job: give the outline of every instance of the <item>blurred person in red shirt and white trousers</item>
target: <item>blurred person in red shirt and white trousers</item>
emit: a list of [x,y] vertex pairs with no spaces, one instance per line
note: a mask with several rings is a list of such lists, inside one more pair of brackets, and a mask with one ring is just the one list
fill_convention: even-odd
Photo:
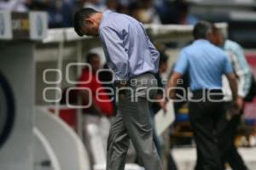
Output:
[[[78,87],[90,89],[90,93],[88,90],[80,90],[79,94],[82,96],[83,105],[88,105],[91,102],[90,108],[84,110],[84,144],[89,150],[90,162],[93,165],[99,157],[97,154],[101,155],[100,157],[106,155],[110,128],[110,121],[107,117],[113,115],[113,104],[96,77],[96,71],[100,69],[100,57],[97,54],[88,54],[86,59],[91,70],[84,68],[79,78]],[[89,80],[90,82],[88,82]],[[97,143],[93,141],[97,141]]]

